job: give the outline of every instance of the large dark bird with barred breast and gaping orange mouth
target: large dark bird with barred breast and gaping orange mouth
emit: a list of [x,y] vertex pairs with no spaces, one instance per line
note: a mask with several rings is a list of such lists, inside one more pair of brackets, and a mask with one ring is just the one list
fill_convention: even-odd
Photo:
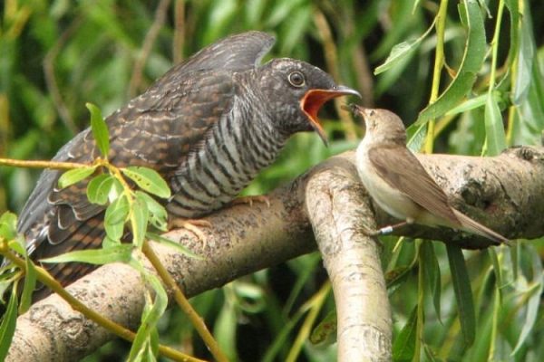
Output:
[[[358,93],[306,62],[259,65],[273,43],[267,33],[240,33],[164,74],[106,119],[112,164],[157,170],[172,190],[170,216],[193,219],[231,202],[294,133],[314,129],[325,138],[317,111],[326,100]],[[53,160],[91,163],[98,156],[85,129]],[[35,260],[102,243],[105,206],[87,200],[87,181],[59,189],[60,175],[45,170],[20,214],[18,231]],[[93,268],[45,266],[63,285]],[[34,300],[47,294],[43,288]]]

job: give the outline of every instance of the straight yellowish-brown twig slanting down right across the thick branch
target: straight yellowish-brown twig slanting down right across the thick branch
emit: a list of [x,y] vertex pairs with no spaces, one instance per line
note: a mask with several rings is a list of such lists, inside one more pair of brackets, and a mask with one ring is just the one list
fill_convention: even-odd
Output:
[[155,268],[155,271],[157,271],[157,273],[159,274],[160,279],[164,281],[166,287],[173,291],[174,299],[180,306],[181,310],[185,312],[194,328],[197,329],[197,332],[199,332],[200,337],[204,340],[206,346],[208,346],[209,352],[219,362],[228,362],[228,357],[226,357],[223,354],[221,348],[219,348],[218,342],[209,332],[208,327],[206,327],[206,324],[204,323],[204,320],[201,319],[199,313],[197,313],[196,310],[192,308],[189,300],[187,300],[183,292],[180,290],[180,287],[178,286],[176,281],[174,281],[174,278],[172,278],[170,272],[166,270],[164,265],[162,265],[162,262],[160,262],[159,257],[153,251],[149,242],[143,243],[142,252],[151,262],[151,265],[153,265],[153,268]]

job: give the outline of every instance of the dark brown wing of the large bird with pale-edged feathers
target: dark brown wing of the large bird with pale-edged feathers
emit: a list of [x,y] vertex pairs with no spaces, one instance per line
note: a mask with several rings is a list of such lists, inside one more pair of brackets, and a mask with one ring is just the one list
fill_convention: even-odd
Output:
[[[184,157],[199,147],[208,129],[230,110],[236,91],[234,72],[255,68],[273,43],[274,38],[266,33],[235,35],[167,72],[106,119],[110,161],[117,167],[151,167],[168,178]],[[98,156],[92,132],[86,129],[53,160],[91,163]],[[59,190],[61,174],[44,171],[19,217],[18,231],[24,233],[34,259],[97,248],[102,243],[105,207],[88,202],[87,180]],[[49,269],[67,285],[90,267],[57,264]]]

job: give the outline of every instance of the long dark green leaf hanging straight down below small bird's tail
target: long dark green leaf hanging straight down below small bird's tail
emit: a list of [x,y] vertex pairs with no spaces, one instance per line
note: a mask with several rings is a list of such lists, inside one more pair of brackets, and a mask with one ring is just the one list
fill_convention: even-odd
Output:
[[453,291],[457,300],[461,332],[465,347],[470,347],[476,337],[476,312],[472,297],[471,280],[461,252],[461,248],[452,243],[446,244],[448,262],[452,271]]

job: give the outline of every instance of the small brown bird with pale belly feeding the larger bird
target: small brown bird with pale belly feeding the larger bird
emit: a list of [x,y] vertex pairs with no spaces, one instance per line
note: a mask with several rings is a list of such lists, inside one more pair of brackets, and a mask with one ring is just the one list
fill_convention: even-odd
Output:
[[356,154],[359,177],[380,207],[404,220],[380,229],[381,233],[415,223],[476,233],[494,243],[509,242],[450,205],[442,188],[406,148],[406,130],[397,115],[389,110],[369,110],[356,105],[352,110],[363,117],[366,125],[366,134]]

